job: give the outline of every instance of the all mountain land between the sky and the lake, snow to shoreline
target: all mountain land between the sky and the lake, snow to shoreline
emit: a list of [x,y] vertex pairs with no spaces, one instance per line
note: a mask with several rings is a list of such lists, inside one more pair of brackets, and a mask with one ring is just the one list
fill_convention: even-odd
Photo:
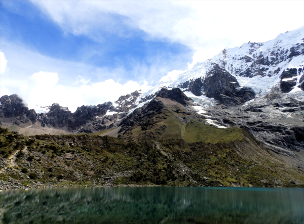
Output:
[[74,113],[0,102],[0,189],[304,186],[304,26]]

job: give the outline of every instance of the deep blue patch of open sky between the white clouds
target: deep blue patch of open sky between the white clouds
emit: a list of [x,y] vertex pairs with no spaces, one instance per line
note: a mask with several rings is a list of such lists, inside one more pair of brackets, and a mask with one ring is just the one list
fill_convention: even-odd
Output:
[[[191,61],[194,54],[193,49],[178,42],[166,41],[164,38],[145,39],[146,35],[140,29],[128,29],[125,31],[126,36],[99,29],[98,39],[84,34],[74,35],[65,32],[39,8],[24,0],[3,1],[0,6],[3,41],[21,44],[29,50],[58,60],[108,70],[124,68],[126,74],[116,77],[121,81],[142,78],[140,76],[143,74],[133,72],[134,64],[148,68],[153,66],[157,58],[168,64],[169,71],[180,70],[187,68],[186,62]],[[120,20],[119,15],[111,17]],[[153,79],[162,75],[155,74]],[[90,75],[90,78],[95,81],[108,77]]]

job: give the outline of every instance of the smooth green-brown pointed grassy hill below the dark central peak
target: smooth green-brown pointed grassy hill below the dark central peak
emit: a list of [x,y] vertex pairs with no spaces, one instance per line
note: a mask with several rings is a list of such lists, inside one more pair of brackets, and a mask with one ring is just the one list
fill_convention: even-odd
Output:
[[200,116],[194,116],[186,108],[163,106],[160,112],[135,123],[120,138],[139,141],[182,139],[187,143],[229,143],[242,140],[240,128],[217,128],[205,124]]

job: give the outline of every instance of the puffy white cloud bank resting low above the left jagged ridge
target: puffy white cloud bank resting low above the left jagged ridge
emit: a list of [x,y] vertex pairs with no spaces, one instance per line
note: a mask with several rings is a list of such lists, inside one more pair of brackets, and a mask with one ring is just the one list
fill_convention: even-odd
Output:
[[58,80],[58,74],[54,72],[34,73],[26,83],[20,85],[19,96],[29,108],[37,108],[36,105],[50,106],[53,103],[59,103],[74,112],[77,107],[82,105],[114,102],[122,95],[150,87],[147,82],[140,84],[135,81],[127,81],[121,84],[113,79],[91,84],[83,83],[78,86],[64,86],[59,84]]

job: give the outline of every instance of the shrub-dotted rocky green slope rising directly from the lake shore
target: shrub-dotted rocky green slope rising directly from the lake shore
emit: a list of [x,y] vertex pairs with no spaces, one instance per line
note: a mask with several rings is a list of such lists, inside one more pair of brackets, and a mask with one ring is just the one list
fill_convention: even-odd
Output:
[[[287,164],[283,155],[260,146],[245,130],[241,130],[241,140],[232,136],[216,144],[186,143],[182,139],[140,142],[89,135],[24,137],[3,128],[0,132],[1,189],[304,184],[302,161],[288,157],[291,162]],[[298,164],[298,168],[289,164]]]

